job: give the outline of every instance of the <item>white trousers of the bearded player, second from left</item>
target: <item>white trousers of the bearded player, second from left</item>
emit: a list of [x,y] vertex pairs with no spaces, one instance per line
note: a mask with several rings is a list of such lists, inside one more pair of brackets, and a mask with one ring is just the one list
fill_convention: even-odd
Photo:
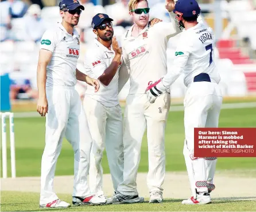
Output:
[[103,194],[102,157],[106,153],[114,190],[123,181],[123,115],[120,105],[106,107],[85,95],[84,111],[92,136],[89,185],[92,193]]

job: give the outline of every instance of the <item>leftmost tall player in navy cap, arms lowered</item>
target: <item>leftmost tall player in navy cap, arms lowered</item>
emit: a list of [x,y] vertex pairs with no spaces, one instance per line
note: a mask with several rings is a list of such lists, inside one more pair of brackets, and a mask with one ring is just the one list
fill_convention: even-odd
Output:
[[80,53],[77,25],[84,7],[78,1],[60,2],[63,21],[55,29],[46,30],[41,39],[37,68],[37,111],[46,114],[45,149],[41,161],[40,207],[70,207],[53,190],[57,158],[66,137],[74,151],[73,205],[106,203],[91,195],[87,184],[90,163],[91,135],[79,94],[77,79],[99,89],[99,82],[76,69]]

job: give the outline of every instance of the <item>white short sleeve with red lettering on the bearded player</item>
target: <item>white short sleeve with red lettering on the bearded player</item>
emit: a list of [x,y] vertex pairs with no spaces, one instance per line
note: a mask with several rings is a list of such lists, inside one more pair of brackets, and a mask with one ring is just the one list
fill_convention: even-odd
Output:
[[84,57],[84,70],[89,77],[98,79],[107,69],[107,66],[102,55],[93,54],[91,50],[87,50],[86,57]]

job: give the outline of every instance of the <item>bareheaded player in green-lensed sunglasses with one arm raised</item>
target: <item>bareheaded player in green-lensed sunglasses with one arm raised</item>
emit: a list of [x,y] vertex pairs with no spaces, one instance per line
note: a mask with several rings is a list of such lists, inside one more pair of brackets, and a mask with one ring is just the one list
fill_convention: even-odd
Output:
[[[130,78],[123,121],[124,173],[118,185],[117,199],[122,201],[138,195],[136,178],[141,158],[142,137],[147,128],[149,172],[147,183],[150,203],[162,202],[165,178],[165,126],[170,107],[170,94],[165,93],[151,105],[145,87],[167,73],[166,47],[170,37],[181,32],[174,21],[174,2],[166,0],[172,22],[160,22],[149,27],[148,1],[131,0],[130,15],[134,25],[123,35],[121,46],[127,73],[119,74],[119,90]],[[126,74],[126,75],[125,75]]]

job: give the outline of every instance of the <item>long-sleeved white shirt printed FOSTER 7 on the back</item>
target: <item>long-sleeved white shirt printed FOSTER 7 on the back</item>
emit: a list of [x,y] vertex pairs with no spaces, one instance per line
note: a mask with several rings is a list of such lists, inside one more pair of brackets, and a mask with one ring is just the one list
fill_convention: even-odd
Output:
[[173,66],[168,74],[162,78],[167,88],[184,74],[184,84],[189,86],[193,78],[200,73],[210,75],[211,82],[219,83],[220,76],[214,62],[214,33],[211,27],[204,23],[197,23],[185,30],[177,44]]

